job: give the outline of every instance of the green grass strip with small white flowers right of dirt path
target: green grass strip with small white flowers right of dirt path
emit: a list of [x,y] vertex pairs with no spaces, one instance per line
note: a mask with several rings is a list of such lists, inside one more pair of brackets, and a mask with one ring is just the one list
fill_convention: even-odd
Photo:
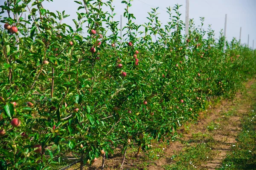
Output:
[[217,170],[256,170],[256,105],[242,119],[242,131],[222,167]]

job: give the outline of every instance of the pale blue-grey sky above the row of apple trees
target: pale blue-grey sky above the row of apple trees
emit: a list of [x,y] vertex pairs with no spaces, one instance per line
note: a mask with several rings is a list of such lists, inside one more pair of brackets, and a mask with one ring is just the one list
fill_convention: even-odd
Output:
[[[104,0],[105,1],[105,0]],[[116,18],[120,20],[120,14],[123,14],[125,4],[121,3],[122,0],[113,0],[115,6]],[[4,0],[0,0],[0,5],[3,5]],[[134,13],[136,20],[135,23],[143,24],[148,16],[147,12],[151,8],[159,7],[159,19],[162,23],[166,23],[169,19],[168,14],[165,12],[166,7],[175,6],[175,4],[183,5],[180,8],[182,20],[185,21],[185,3],[186,0],[134,0],[130,8],[130,12]],[[200,24],[199,17],[205,17],[204,28],[207,29],[208,25],[212,25],[215,30],[215,37],[219,37],[219,32],[224,29],[225,14],[227,14],[227,40],[232,40],[233,37],[239,39],[240,26],[242,27],[241,42],[247,43],[248,34],[250,34],[249,46],[252,47],[253,40],[256,41],[256,0],[190,0],[189,18],[194,18],[195,24]],[[73,26],[72,19],[76,19],[76,11],[78,4],[73,0],[53,0],[53,2],[44,2],[44,8],[50,11],[63,11],[70,14],[65,23]],[[108,10],[104,8],[104,10]],[[82,12],[80,10],[79,12]],[[123,20],[125,22],[125,20]],[[256,42],[254,43],[254,49]]]

